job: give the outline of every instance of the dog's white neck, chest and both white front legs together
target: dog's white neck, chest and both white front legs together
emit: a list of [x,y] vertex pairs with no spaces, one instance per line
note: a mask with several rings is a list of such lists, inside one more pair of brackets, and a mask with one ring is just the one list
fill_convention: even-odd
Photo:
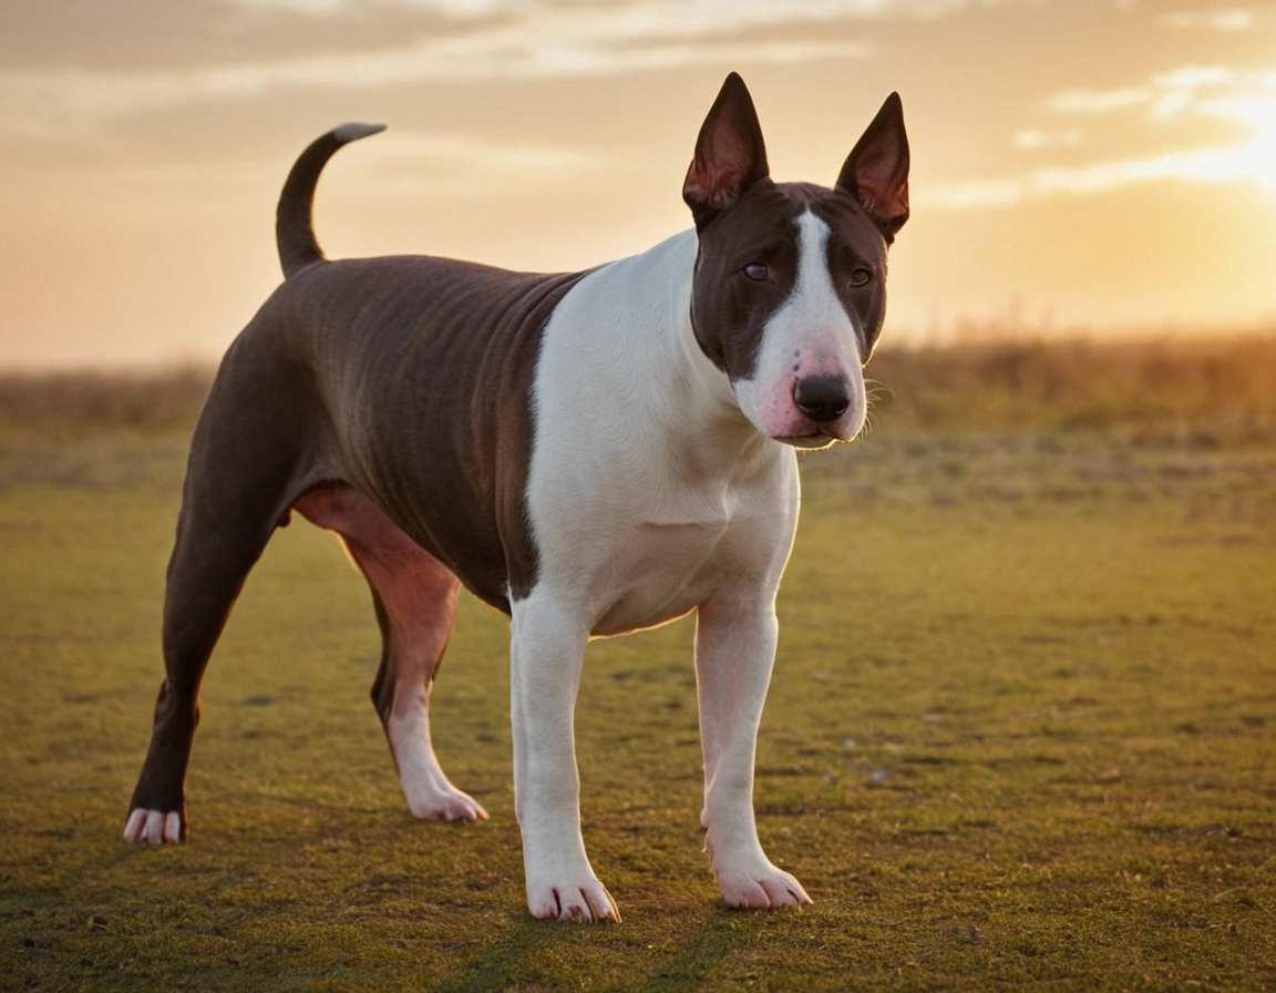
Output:
[[619,919],[579,828],[572,715],[586,642],[694,608],[720,886],[734,905],[806,900],[762,854],[752,791],[796,457],[754,430],[695,343],[694,255],[686,232],[604,267],[545,329],[527,486],[540,572],[512,604],[514,796],[538,916]]

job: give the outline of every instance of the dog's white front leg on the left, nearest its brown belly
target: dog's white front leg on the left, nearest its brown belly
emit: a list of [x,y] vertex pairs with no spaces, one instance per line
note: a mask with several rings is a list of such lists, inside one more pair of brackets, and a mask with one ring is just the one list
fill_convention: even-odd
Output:
[[620,920],[581,837],[573,713],[588,632],[570,608],[545,595],[533,592],[512,613],[514,809],[527,906],[538,918]]

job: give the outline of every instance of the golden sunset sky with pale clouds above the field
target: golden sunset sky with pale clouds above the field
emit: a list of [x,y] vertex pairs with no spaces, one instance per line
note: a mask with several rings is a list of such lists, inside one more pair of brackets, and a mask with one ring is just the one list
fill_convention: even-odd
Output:
[[346,120],[332,258],[642,251],[731,70],[777,180],[900,92],[886,345],[1276,328],[1276,0],[0,0],[0,368],[216,360]]

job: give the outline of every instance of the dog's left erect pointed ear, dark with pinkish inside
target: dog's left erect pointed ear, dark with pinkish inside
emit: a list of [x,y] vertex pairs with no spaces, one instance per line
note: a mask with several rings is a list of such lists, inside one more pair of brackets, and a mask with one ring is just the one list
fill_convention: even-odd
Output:
[[744,80],[731,73],[701,125],[695,157],[683,183],[683,199],[692,208],[695,227],[703,228],[768,172],[753,98]]

